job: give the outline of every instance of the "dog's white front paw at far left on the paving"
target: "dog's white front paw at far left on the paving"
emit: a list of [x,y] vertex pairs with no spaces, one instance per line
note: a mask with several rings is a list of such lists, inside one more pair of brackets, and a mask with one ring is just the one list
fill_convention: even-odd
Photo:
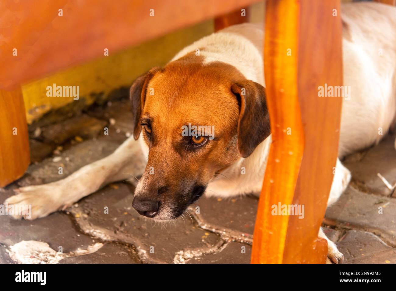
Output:
[[8,203],[8,215],[14,219],[33,220],[59,210],[63,207],[61,193],[56,185],[51,184],[15,189],[17,194],[4,202]]

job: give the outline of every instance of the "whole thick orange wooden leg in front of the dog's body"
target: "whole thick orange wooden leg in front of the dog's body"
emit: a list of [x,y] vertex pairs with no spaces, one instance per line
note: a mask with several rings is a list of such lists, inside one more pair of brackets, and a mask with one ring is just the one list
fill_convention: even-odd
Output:
[[[337,9],[337,16],[333,16]],[[318,230],[336,164],[341,97],[339,0],[268,0],[264,63],[272,145],[253,235],[251,263],[325,263]],[[272,215],[274,205],[304,205],[304,218]]]

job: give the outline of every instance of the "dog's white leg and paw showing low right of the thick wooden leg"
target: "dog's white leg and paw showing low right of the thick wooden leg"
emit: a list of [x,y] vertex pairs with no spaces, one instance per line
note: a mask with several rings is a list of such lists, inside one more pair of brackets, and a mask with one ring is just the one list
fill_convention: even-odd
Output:
[[[329,199],[327,200],[327,207],[338,200],[341,194],[345,191],[348,183],[350,181],[351,174],[340,160],[337,158],[337,163],[335,166],[334,179],[331,184]],[[322,231],[322,227],[319,229],[318,236],[327,240],[327,263],[342,263],[344,260],[344,255],[339,252],[335,243],[326,237],[326,234]]]

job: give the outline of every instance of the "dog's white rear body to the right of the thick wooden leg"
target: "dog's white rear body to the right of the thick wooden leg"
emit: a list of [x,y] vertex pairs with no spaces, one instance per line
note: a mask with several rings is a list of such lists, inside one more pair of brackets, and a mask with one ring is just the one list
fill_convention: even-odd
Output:
[[[396,108],[396,8],[377,3],[342,7],[350,37],[343,39],[344,85],[339,157],[379,142]],[[382,55],[379,55],[382,50]]]

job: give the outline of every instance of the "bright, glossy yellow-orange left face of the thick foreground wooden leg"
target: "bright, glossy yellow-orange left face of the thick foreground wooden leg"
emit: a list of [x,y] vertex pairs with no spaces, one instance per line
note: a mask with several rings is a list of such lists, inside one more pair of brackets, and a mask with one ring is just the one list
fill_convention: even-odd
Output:
[[[291,204],[303,156],[297,96],[298,12],[297,1],[267,1],[264,74],[272,145],[257,210],[251,263],[282,263],[289,217],[272,216],[271,205],[280,201]],[[291,56],[286,55],[287,49],[291,49]],[[292,134],[287,135],[287,128]]]

